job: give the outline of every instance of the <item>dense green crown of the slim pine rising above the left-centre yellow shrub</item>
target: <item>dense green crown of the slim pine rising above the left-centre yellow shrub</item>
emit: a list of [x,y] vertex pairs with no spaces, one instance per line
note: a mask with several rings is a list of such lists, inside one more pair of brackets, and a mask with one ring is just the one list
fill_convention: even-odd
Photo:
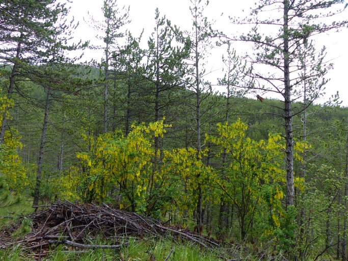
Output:
[[[146,90],[152,97],[154,121],[160,121],[168,115],[170,106],[179,102],[175,96],[176,92],[184,88],[185,67],[183,59],[188,57],[188,50],[184,47],[174,47],[173,32],[166,24],[166,17],[160,17],[158,8],[155,10],[156,25],[154,32],[148,40],[147,64],[145,66],[145,77],[150,82]],[[159,139],[155,139],[155,150],[159,148]]]

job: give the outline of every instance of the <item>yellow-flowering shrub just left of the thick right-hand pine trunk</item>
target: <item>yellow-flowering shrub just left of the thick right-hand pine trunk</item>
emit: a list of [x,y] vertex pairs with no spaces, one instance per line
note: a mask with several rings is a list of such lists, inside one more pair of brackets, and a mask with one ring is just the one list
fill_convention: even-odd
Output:
[[[285,183],[283,138],[273,134],[266,141],[255,141],[246,137],[247,128],[240,120],[219,123],[216,136],[206,135],[206,141],[219,148],[217,158],[223,160],[223,167],[217,170],[215,183],[221,197],[236,209],[242,239],[255,218],[270,224],[264,227],[268,234],[280,225]],[[262,209],[265,215],[257,217]]]

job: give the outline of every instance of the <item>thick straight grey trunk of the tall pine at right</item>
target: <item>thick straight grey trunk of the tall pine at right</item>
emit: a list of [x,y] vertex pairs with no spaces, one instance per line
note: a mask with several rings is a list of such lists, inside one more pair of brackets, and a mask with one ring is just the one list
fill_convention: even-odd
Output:
[[289,39],[288,39],[288,0],[284,0],[284,119],[286,140],[286,206],[293,205],[293,139],[292,139],[292,111],[290,90],[290,61],[289,61]]

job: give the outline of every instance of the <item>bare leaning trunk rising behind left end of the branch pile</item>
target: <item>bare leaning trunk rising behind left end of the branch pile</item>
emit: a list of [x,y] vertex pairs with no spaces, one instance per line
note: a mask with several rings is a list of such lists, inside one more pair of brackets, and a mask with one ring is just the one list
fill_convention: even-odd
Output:
[[42,127],[42,133],[41,133],[40,150],[39,150],[39,155],[38,155],[38,167],[37,167],[37,170],[36,170],[36,185],[35,185],[35,190],[34,190],[33,205],[38,205],[39,204],[39,198],[40,198],[42,163],[43,163],[43,155],[44,155],[44,152],[45,152],[46,132],[47,132],[47,123],[48,123],[48,111],[49,111],[49,106],[50,106],[51,92],[52,92],[52,87],[49,86],[48,90],[47,90],[45,116],[43,118],[43,127]]

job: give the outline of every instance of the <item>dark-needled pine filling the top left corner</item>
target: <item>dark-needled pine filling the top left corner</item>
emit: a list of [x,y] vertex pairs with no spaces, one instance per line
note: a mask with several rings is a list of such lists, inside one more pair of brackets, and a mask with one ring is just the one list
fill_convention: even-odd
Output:
[[[21,92],[16,82],[28,80],[32,73],[30,65],[44,62],[44,53],[54,37],[52,25],[64,9],[64,5],[55,0],[5,0],[0,4],[0,63],[11,68],[8,75],[4,75],[10,80],[4,91],[9,98],[15,91]],[[4,117],[0,127],[2,143],[7,123]]]

